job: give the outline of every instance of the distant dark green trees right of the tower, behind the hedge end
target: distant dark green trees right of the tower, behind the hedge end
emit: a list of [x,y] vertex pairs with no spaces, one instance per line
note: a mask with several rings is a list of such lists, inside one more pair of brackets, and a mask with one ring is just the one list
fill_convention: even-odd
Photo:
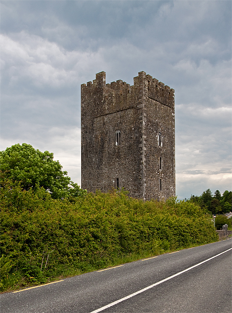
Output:
[[201,208],[207,208],[213,214],[225,214],[232,211],[232,191],[224,191],[221,195],[219,190],[212,194],[210,189],[207,189],[201,196],[191,195],[190,202],[197,203]]

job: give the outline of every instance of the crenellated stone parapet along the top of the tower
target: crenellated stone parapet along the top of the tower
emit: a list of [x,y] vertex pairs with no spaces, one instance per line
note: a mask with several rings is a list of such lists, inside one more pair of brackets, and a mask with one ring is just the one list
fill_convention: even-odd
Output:
[[[147,98],[146,102],[150,99],[150,101],[154,100],[174,108],[174,89],[170,89],[169,86],[159,82],[158,79],[144,71],[139,72],[138,76],[134,77],[134,85],[132,86],[121,79],[106,84],[105,76],[104,71],[99,72],[92,82],[89,81],[81,85],[82,101],[86,104],[89,103],[87,110],[91,110],[94,116],[102,116],[135,106],[142,96]],[[95,98],[94,102],[92,101],[93,97]],[[142,103],[140,107],[141,105],[143,106]],[[154,102],[153,105],[155,105]]]

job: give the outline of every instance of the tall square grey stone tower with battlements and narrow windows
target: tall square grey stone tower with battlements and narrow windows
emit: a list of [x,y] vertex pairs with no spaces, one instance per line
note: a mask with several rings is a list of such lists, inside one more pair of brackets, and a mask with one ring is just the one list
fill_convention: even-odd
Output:
[[82,84],[82,188],[175,196],[174,106],[174,89],[143,71],[133,86],[105,84],[105,72]]

